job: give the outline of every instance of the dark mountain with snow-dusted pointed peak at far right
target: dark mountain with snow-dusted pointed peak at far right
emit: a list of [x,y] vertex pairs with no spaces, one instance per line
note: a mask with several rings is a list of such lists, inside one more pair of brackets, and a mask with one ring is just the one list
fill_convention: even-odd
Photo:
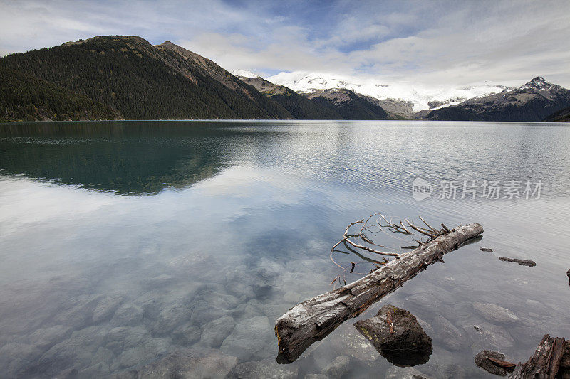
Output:
[[452,121],[538,122],[570,106],[570,90],[537,76],[530,82],[495,95],[475,97],[459,105],[432,110],[425,118]]

